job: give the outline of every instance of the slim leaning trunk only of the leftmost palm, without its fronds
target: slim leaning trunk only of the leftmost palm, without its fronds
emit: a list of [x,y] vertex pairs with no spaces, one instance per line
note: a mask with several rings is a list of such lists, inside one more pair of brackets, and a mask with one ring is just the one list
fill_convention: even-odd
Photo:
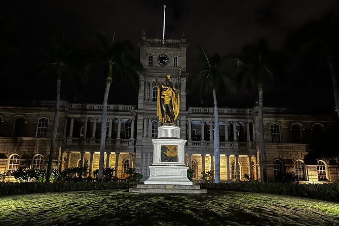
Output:
[[[61,69],[60,69],[61,73]],[[59,76],[60,78],[61,76]],[[56,134],[58,131],[58,122],[59,122],[59,111],[60,111],[60,87],[61,87],[61,79],[57,80],[57,96],[56,96],[56,103],[55,103],[55,113],[54,113],[54,122],[53,122],[53,134],[52,134],[52,141],[51,141],[51,148],[50,148],[50,156],[48,159],[48,166],[46,172],[46,182],[50,182],[51,177],[51,169],[52,169],[52,161],[53,161],[53,152],[54,152],[54,144],[56,139]]]

